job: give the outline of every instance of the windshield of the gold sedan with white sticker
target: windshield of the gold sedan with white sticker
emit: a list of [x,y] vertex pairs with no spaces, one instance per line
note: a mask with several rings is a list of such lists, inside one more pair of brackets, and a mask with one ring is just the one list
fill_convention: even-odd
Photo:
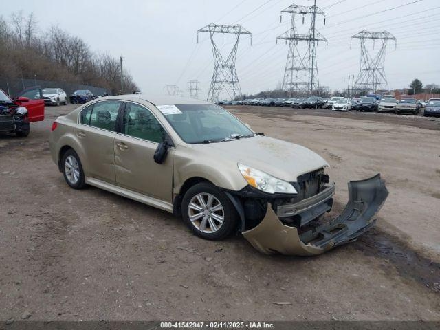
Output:
[[222,142],[254,136],[245,124],[217,105],[178,104],[175,107],[172,114],[164,113],[164,116],[186,143]]

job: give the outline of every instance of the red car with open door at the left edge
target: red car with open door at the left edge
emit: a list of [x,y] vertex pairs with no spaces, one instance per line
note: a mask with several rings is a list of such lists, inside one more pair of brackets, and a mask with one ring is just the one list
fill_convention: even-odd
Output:
[[30,122],[44,120],[44,100],[41,87],[29,87],[10,98],[0,89],[0,132],[28,136]]

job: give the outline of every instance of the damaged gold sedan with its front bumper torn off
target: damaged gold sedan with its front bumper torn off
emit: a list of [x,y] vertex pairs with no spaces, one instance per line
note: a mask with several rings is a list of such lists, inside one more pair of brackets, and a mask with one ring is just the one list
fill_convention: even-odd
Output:
[[181,214],[203,239],[241,232],[267,254],[349,243],[374,225],[388,195],[380,175],[351,181],[342,215],[320,225],[313,220],[331,210],[336,189],[325,159],[255,133],[215,104],[180,97],[91,101],[55,120],[50,151],[72,188],[89,184]]

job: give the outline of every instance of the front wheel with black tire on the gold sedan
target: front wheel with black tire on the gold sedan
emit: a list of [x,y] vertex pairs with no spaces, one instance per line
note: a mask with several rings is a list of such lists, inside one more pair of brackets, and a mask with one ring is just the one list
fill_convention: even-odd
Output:
[[[211,201],[214,211],[210,212],[209,208],[203,209],[203,205],[209,207],[207,205],[209,201]],[[192,207],[190,207],[190,203]],[[215,210],[219,207],[221,210]],[[223,218],[223,223],[220,223],[217,217],[212,217],[212,214],[219,217],[218,219]],[[210,240],[220,240],[227,237],[236,228],[238,219],[238,214],[228,196],[208,182],[201,182],[188,189],[181,203],[181,215],[188,228],[195,235]]]

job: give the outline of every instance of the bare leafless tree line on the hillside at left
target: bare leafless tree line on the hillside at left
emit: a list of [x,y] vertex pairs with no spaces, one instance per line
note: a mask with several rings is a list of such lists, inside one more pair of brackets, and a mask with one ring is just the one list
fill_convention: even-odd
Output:
[[[0,76],[34,78],[103,87],[111,94],[121,93],[118,58],[97,54],[78,36],[57,26],[41,31],[34,14],[0,16]],[[124,94],[139,91],[133,77],[124,69]]]

